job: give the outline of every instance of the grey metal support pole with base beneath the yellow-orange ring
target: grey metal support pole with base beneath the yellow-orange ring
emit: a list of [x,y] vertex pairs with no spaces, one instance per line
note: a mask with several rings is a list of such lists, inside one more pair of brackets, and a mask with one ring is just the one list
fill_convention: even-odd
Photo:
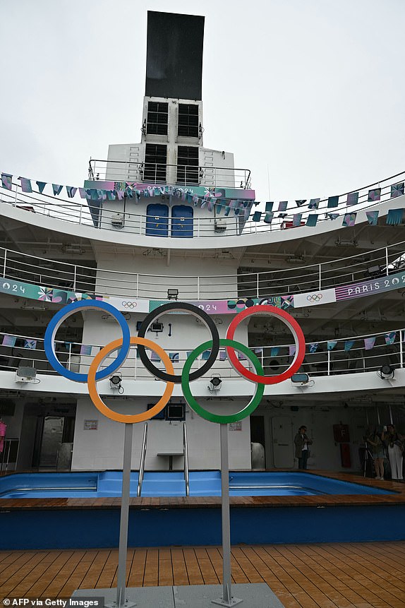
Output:
[[121,497],[121,519],[119,523],[119,550],[118,550],[118,575],[116,580],[116,602],[106,604],[107,607],[119,608],[121,606],[130,608],[136,606],[135,602],[129,602],[125,597],[126,588],[126,554],[128,548],[128,513],[129,513],[129,486],[131,481],[131,453],[132,453],[133,425],[126,422],[125,437],[123,440],[123,472],[122,472],[122,497]]

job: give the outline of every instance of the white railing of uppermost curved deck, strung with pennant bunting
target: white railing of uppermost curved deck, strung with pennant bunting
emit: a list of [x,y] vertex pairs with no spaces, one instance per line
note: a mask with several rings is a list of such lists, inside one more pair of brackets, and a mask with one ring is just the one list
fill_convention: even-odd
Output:
[[[354,213],[360,209],[373,210],[375,209],[376,205],[384,201],[392,200],[394,205],[396,198],[392,198],[391,186],[394,186],[401,180],[405,180],[405,172],[401,172],[394,176],[388,177],[387,179],[376,182],[375,184],[369,184],[368,186],[358,189],[359,198],[356,205],[347,205],[346,203],[347,195],[350,192],[339,196],[339,201],[340,199],[341,201],[339,202],[337,208],[327,208],[327,198],[322,198],[318,209],[311,211],[308,210],[308,205],[296,207],[294,203],[292,206],[289,205],[285,215],[285,213],[279,214],[277,212],[277,203],[274,203],[274,215],[271,223],[266,223],[265,221],[253,221],[251,218],[244,222],[244,220],[240,219],[241,215],[234,216],[232,211],[227,217],[224,217],[225,212],[223,211],[222,215],[219,215],[219,217],[226,220],[226,228],[220,233],[218,230],[215,230],[214,214],[212,214],[212,218],[195,217],[193,219],[192,230],[188,230],[186,232],[186,237],[184,238],[221,237],[221,239],[223,239],[226,236],[235,237],[235,235],[238,234],[248,235],[274,232],[277,230],[291,230],[295,228],[292,224],[294,220],[293,215],[296,213],[303,214],[301,223],[306,222],[306,217],[308,214],[318,214],[319,225],[322,222],[330,222],[330,213],[336,213],[341,218],[341,216],[343,216],[345,213]],[[192,189],[193,185],[188,184],[188,187]],[[368,191],[373,187],[381,188],[380,201],[368,201]],[[157,201],[159,198],[155,197],[155,199],[152,200]],[[109,230],[112,232],[121,233],[121,231],[123,231],[131,234],[145,235],[148,227],[149,236],[155,236],[159,239],[171,237],[171,220],[169,221],[167,217],[159,218],[160,222],[165,225],[164,232],[167,232],[167,234],[162,234],[162,229],[159,229],[156,234],[154,234],[153,230],[150,228],[150,220],[154,220],[156,217],[155,215],[147,216],[145,214],[125,212],[123,213],[123,221],[117,224],[117,222],[111,222],[111,212],[100,213],[100,203],[98,201],[95,201],[94,203],[89,201],[87,204],[75,201],[73,198],[65,199],[61,196],[49,196],[43,193],[40,194],[39,192],[24,193],[21,191],[20,184],[13,184],[12,190],[0,187],[0,201],[25,210],[27,213],[39,213],[40,215],[53,217],[56,220],[73,222],[74,224],[93,227],[97,230],[101,228],[103,230]],[[91,211],[93,213],[91,213]],[[120,211],[118,205],[117,211]],[[283,217],[280,217],[280,215]],[[262,213],[262,216],[264,219],[265,213]],[[176,224],[176,220],[174,220],[174,223]],[[336,227],[340,227],[340,225],[336,225]]]

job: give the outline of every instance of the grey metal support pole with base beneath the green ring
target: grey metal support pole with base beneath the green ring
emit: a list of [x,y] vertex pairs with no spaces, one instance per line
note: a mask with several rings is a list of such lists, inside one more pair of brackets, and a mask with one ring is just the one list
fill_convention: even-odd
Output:
[[231,520],[229,517],[229,459],[228,425],[221,427],[221,494],[222,494],[222,598],[212,604],[231,608],[243,600],[232,597],[231,592]]

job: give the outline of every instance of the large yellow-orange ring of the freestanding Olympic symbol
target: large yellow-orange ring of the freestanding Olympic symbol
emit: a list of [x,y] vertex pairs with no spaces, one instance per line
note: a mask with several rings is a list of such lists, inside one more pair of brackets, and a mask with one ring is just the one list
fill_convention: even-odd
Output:
[[[143,346],[147,346],[148,348],[150,348],[150,350],[156,352],[156,354],[162,359],[162,362],[166,367],[166,371],[169,374],[174,373],[173,364],[171,363],[169,355],[162,349],[161,346],[155,344],[155,342],[152,342],[152,340],[147,340],[147,338],[131,337],[130,344],[142,344]],[[119,414],[118,412],[113,412],[113,410],[110,410],[110,408],[105,405],[104,401],[97,392],[96,373],[99,364],[102,363],[102,360],[105,359],[105,357],[107,357],[110,352],[116,350],[120,346],[122,346],[122,338],[120,338],[119,340],[113,340],[113,342],[110,342],[109,344],[107,344],[107,346],[104,346],[102,350],[97,352],[95,358],[92,360],[92,364],[90,365],[87,377],[87,386],[89,388],[90,399],[94,403],[95,407],[97,407],[97,410],[99,410],[99,412],[101,412],[104,416],[107,416],[107,418],[110,418],[111,420],[115,420],[116,422],[129,423],[144,422],[145,420],[153,418],[155,415],[159,414],[159,412],[162,412],[164,406],[171,398],[171,393],[173,393],[174,389],[174,382],[167,382],[166,388],[164,389],[164,393],[157,402],[157,404],[151,407],[150,410],[147,410],[142,414]]]

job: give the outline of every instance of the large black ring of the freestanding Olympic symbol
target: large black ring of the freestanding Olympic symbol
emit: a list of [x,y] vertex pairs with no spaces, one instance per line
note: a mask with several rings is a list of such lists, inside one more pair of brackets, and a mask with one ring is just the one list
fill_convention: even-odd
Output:
[[[162,304],[157,309],[153,310],[142,321],[142,325],[138,330],[138,337],[145,338],[145,334],[150,326],[150,324],[155,320],[157,316],[161,316],[162,314],[167,313],[167,311],[179,310],[186,311],[194,316],[200,317],[200,319],[205,323],[207,328],[210,330],[212,335],[212,349],[210,357],[208,357],[207,361],[204,363],[200,369],[193,371],[190,374],[190,381],[197,380],[201,378],[211,367],[214,365],[215,360],[217,359],[217,354],[219,352],[219,334],[217,330],[217,326],[215,325],[212,318],[202,309],[198,308],[198,306],[194,306],[194,304],[187,304],[186,302],[168,302],[168,304]],[[164,380],[167,382],[174,382],[176,384],[181,384],[181,374],[180,376],[176,376],[175,374],[167,374],[166,371],[162,369],[158,369],[151,361],[148,359],[145,346],[138,344],[138,354],[140,360],[143,362],[147,371],[150,371],[151,374],[159,378],[159,380]]]

